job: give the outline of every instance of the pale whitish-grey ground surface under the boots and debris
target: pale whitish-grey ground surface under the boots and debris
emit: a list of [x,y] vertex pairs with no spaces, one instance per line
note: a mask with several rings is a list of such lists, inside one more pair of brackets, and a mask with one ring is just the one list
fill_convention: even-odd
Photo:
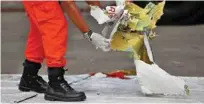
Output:
[[[204,104],[204,77],[179,77],[186,81],[189,86],[190,95],[170,95],[170,96],[144,96],[138,84],[138,78],[129,76],[130,79],[123,80],[118,78],[105,78],[105,76],[92,76],[86,80],[88,75],[68,75],[65,79],[68,82],[77,81],[71,84],[77,91],[84,91],[87,99],[78,103],[198,103]],[[48,81],[47,75],[42,76],[45,81]],[[3,74],[1,76],[1,102],[14,103],[35,95],[35,92],[21,92],[18,90],[18,83],[21,78],[20,74]],[[80,81],[79,81],[80,80]],[[168,89],[168,88],[167,88]],[[73,104],[73,102],[59,102],[46,101],[44,94],[37,94],[36,97],[24,100],[21,103],[66,103]]]

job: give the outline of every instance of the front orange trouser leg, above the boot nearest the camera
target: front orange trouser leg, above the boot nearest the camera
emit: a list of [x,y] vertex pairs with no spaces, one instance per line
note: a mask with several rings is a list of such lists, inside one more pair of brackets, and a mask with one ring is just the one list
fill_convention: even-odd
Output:
[[[57,1],[23,1],[23,4],[31,21],[39,30],[47,66],[65,66],[67,21],[59,3]],[[32,52],[30,51],[31,54]]]

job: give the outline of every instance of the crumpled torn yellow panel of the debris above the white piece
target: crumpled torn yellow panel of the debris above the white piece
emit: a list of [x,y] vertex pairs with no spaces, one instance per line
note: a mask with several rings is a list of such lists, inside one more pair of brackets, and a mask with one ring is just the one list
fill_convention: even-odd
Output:
[[119,51],[131,50],[135,59],[150,64],[144,45],[144,32],[149,31],[148,39],[156,36],[152,30],[163,15],[164,5],[163,1],[157,5],[149,3],[145,8],[141,8],[134,3],[126,2],[125,10],[128,10],[129,15],[125,21],[127,25],[124,22],[119,25],[118,31],[112,37],[111,48]]

